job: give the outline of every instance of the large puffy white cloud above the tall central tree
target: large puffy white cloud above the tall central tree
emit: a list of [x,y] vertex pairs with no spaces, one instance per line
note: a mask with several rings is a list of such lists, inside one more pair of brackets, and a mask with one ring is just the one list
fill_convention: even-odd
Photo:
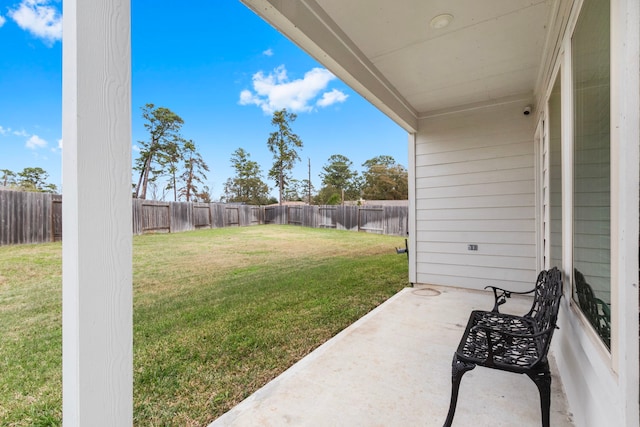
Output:
[[[240,105],[257,105],[265,113],[273,113],[276,110],[286,108],[293,112],[313,111],[313,100],[317,98],[327,87],[329,82],[336,77],[324,68],[313,68],[305,73],[302,79],[289,80],[287,69],[279,66],[269,74],[258,71],[253,75],[253,91],[240,92]],[[346,95],[342,92],[340,100],[338,93],[323,93],[318,101],[320,106],[326,107],[335,102],[344,102]],[[326,98],[326,100],[324,100]]]

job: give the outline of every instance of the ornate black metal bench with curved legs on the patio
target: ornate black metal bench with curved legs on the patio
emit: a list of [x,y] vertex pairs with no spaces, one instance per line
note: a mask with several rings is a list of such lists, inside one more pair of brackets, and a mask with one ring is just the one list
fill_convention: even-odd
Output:
[[[542,271],[536,286],[528,292],[512,292],[495,286],[495,304],[491,311],[471,312],[469,323],[453,355],[451,403],[444,423],[451,426],[458,402],[460,381],[465,372],[476,366],[527,374],[540,392],[542,425],[549,426],[551,404],[551,373],[547,353],[562,298],[562,274],[557,268]],[[485,288],[485,289],[486,289]],[[498,311],[511,295],[533,293],[533,305],[524,316]]]

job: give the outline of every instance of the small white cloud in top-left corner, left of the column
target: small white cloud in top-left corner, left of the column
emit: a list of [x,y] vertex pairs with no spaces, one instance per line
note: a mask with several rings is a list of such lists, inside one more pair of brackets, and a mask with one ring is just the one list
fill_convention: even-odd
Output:
[[9,10],[9,17],[34,36],[53,44],[62,39],[62,15],[50,0],[22,0],[17,9]]

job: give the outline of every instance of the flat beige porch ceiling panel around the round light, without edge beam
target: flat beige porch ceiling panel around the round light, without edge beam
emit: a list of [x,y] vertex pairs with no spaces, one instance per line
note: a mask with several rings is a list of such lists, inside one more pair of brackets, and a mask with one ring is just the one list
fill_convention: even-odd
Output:
[[[532,94],[549,2],[318,0],[418,113]],[[439,14],[451,24],[429,26]]]

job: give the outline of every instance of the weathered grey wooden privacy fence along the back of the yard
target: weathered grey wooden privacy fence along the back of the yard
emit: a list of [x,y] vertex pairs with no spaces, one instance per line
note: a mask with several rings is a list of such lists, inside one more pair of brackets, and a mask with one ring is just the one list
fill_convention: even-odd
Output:
[[[289,224],[406,236],[407,206],[248,206],[133,199],[133,234]],[[0,245],[62,238],[62,196],[0,191]]]

